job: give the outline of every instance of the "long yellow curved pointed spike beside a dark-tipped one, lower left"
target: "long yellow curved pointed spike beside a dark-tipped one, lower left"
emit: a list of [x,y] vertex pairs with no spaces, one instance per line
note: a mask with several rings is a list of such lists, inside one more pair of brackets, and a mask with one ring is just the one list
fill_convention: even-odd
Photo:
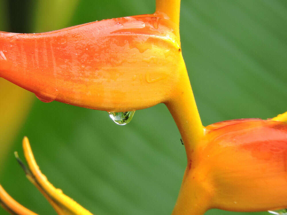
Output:
[[[26,172],[28,179],[43,193],[45,198],[51,203],[60,215],[92,215],[88,210],[80,206],[77,202],[63,194],[60,189],[56,189],[40,171],[34,155],[32,153],[29,140],[23,139],[23,149],[30,173]],[[24,169],[25,170],[25,169]]]

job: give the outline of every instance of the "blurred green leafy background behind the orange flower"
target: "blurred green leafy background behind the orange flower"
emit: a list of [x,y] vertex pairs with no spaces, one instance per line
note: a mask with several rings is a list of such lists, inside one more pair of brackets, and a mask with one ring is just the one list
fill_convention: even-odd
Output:
[[[49,31],[154,9],[154,0],[0,0],[0,30]],[[204,125],[287,110],[286,38],[286,0],[182,1],[183,56]],[[186,159],[163,104],[136,111],[130,124],[118,126],[106,112],[34,100],[1,158],[0,183],[34,212],[56,214],[13,156],[16,150],[23,158],[25,135],[51,183],[92,213],[171,213]]]

